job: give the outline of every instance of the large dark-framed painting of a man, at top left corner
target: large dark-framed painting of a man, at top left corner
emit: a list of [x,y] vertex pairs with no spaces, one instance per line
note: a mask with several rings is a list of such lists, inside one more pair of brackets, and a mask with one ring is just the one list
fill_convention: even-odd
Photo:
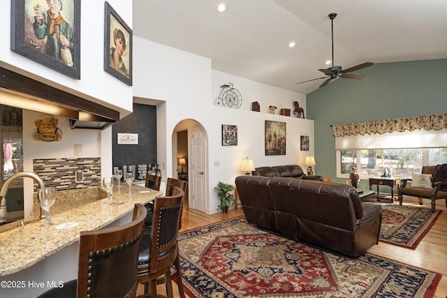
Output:
[[80,0],[12,0],[11,50],[80,79]]

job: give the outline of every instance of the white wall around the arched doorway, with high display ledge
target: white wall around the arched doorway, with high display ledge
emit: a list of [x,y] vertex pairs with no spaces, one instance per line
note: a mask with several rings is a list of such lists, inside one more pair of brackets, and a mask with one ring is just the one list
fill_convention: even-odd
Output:
[[[281,116],[279,110],[277,114],[268,114],[268,105],[293,110],[292,103],[298,100],[305,107],[304,94],[212,70],[210,59],[159,43],[134,37],[134,45],[134,61],[138,61],[133,73],[134,96],[139,103],[144,102],[142,98],[164,101],[157,106],[158,162],[166,164],[163,177],[173,177],[172,135],[178,130],[175,126],[184,119],[192,119],[205,128],[207,197],[210,198],[207,213],[218,212],[219,200],[213,188],[219,181],[234,184],[235,177],[242,174],[239,171],[242,158],[254,158],[255,166],[299,164],[305,167],[305,156],[314,152],[314,121]],[[220,86],[228,82],[242,94],[240,109],[214,105]],[[261,104],[261,112],[251,111],[252,101]],[[286,156],[265,156],[265,120],[286,122]],[[221,146],[222,124],[237,125],[237,146]],[[310,137],[310,151],[300,151],[300,135]],[[214,161],[219,161],[219,167],[214,166]]]

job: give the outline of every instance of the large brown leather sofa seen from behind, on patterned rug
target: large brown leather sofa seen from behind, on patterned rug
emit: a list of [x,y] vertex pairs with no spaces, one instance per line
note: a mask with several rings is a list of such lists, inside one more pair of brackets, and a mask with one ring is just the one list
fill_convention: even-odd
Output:
[[236,177],[249,223],[281,236],[356,257],[379,243],[381,207],[355,188],[284,177]]

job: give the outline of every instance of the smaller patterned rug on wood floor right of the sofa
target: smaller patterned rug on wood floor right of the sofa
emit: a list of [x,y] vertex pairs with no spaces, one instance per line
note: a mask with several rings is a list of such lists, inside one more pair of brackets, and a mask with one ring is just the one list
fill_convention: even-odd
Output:
[[442,210],[432,212],[429,207],[382,204],[380,240],[416,249],[441,212]]

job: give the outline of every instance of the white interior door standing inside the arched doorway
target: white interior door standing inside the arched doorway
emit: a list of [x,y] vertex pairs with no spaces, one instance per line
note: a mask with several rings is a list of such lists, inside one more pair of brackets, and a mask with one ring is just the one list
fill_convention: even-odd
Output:
[[205,212],[205,186],[206,186],[206,166],[205,166],[205,134],[200,126],[193,127],[193,209]]

